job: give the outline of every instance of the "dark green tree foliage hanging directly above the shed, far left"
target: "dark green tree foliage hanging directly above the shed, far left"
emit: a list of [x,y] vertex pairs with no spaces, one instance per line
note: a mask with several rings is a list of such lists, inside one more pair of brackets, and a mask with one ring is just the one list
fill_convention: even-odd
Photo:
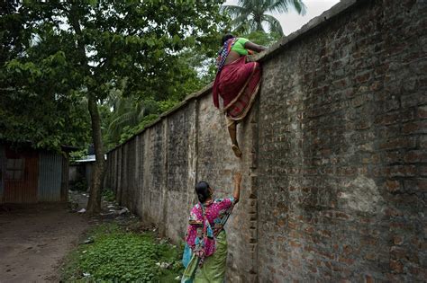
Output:
[[[28,22],[18,1],[0,5],[0,138],[56,151],[84,143],[86,104],[66,92],[72,74],[64,52],[55,49],[48,27],[42,40],[24,29]],[[52,79],[61,82],[60,92],[52,88]]]

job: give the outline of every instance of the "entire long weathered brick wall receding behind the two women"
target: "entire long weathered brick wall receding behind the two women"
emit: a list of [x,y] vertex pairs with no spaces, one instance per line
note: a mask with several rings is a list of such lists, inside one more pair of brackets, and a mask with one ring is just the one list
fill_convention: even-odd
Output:
[[210,89],[108,155],[107,186],[175,241],[196,181],[243,194],[232,282],[427,278],[427,4],[342,1],[258,59],[232,155]]

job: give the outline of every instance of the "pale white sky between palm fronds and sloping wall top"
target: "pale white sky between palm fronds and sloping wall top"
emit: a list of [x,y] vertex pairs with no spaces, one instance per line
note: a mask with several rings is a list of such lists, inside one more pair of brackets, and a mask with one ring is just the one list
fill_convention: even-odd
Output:
[[[334,4],[340,0],[304,0],[307,7],[307,13],[304,16],[298,15],[294,10],[289,13],[271,13],[280,21],[285,35],[299,30],[305,23],[309,22],[314,17],[320,15],[326,10],[329,10]],[[225,4],[237,4],[238,0],[227,0]]]

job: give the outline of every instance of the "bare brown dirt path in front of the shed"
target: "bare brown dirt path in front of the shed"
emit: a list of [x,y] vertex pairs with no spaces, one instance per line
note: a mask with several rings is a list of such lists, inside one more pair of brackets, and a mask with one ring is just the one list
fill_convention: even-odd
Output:
[[[73,198],[73,196],[72,196]],[[85,197],[76,197],[79,207]],[[65,205],[0,209],[0,282],[58,282],[59,262],[90,226]]]

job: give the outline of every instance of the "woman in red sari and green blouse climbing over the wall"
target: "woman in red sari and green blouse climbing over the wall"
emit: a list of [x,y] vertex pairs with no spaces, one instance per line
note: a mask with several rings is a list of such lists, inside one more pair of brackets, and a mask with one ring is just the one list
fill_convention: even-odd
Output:
[[250,52],[261,52],[263,46],[232,34],[223,37],[223,48],[216,59],[218,72],[213,83],[213,104],[220,107],[219,97],[223,98],[223,111],[232,138],[232,151],[241,157],[237,143],[236,124],[246,117],[259,91],[261,68],[258,62],[246,62]]

